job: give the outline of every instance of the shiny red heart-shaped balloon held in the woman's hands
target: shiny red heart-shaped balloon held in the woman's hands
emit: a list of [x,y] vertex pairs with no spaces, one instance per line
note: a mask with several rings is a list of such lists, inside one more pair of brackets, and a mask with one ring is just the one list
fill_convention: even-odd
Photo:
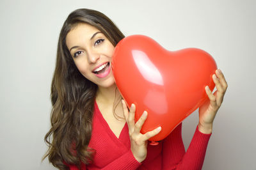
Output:
[[212,74],[217,66],[210,54],[195,48],[168,51],[143,35],[121,40],[111,65],[125,102],[136,105],[135,120],[148,112],[141,133],[162,127],[150,141],[170,134],[208,98],[205,86],[215,86]]

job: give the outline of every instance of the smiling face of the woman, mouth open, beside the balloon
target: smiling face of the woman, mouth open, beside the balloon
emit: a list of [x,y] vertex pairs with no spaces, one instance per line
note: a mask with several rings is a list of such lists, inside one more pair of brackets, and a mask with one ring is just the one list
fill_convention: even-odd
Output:
[[78,24],[66,38],[68,50],[86,79],[108,88],[115,83],[111,59],[115,47],[96,27]]

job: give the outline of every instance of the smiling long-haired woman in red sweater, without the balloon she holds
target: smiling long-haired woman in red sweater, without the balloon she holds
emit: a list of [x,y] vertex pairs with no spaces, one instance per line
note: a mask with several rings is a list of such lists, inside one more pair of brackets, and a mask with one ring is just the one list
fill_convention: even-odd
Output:
[[136,106],[127,109],[111,71],[113,51],[122,38],[121,31],[100,12],[79,9],[68,15],[52,79],[52,127],[45,135],[49,144],[45,157],[58,169],[201,169],[212,122],[227,89],[223,73],[216,70],[212,77],[216,93],[205,88],[209,102],[199,109],[188,150],[182,142],[181,123],[151,146],[147,140],[161,127],[140,133],[147,112],[134,122]]

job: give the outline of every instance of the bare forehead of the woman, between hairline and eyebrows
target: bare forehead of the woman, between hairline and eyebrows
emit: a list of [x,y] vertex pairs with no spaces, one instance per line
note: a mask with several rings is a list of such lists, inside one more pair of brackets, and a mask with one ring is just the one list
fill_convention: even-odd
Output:
[[70,45],[74,45],[74,43],[77,43],[77,41],[80,40],[90,40],[92,35],[98,31],[99,29],[89,24],[77,24],[77,26],[73,27],[67,34],[67,46],[69,47]]

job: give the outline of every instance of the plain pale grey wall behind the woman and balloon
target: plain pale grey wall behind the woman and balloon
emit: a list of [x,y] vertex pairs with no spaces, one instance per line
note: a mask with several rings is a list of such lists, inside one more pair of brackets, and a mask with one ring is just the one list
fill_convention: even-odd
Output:
[[[255,1],[0,1],[0,169],[54,169],[40,162],[50,127],[56,45],[67,15],[92,8],[125,35],[143,34],[168,50],[209,52],[228,81],[203,169],[256,169]],[[184,121],[186,148],[198,123]]]

